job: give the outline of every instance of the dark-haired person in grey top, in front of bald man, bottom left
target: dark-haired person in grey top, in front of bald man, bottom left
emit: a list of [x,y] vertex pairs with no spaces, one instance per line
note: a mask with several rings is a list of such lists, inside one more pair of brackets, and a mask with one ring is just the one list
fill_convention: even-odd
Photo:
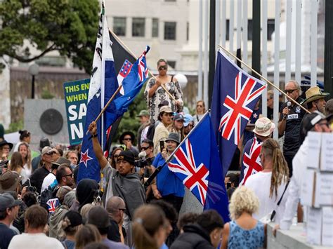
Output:
[[93,224],[97,227],[100,232],[101,242],[107,245],[110,249],[129,248],[122,243],[110,241],[110,239],[107,238],[107,231],[110,227],[110,222],[107,211],[101,206],[91,208],[88,214],[88,224]]

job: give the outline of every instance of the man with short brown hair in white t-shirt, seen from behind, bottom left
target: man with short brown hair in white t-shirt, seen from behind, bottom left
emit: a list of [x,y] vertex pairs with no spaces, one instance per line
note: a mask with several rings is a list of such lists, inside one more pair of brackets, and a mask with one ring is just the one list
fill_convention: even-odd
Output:
[[25,233],[14,236],[8,248],[61,248],[63,245],[55,238],[44,234],[48,213],[39,205],[33,205],[25,211]]

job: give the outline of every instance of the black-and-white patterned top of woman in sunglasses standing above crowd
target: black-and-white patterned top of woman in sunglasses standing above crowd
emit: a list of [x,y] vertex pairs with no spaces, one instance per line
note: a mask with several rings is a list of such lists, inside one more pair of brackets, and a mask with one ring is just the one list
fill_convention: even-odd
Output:
[[[171,81],[168,83],[165,83],[164,86],[166,90],[171,93],[171,95],[174,96],[176,100],[178,100],[181,103],[181,107],[183,107],[183,93],[181,91],[181,86],[179,85],[178,81],[172,81],[174,76],[171,77]],[[148,96],[150,88],[154,86],[156,83],[154,78],[150,78],[150,80],[147,83],[147,86],[145,87],[145,99],[147,101],[147,107],[148,107],[148,112],[150,113],[150,121],[154,123],[157,121],[158,114],[159,114],[159,107],[158,105],[166,100],[169,102],[169,107],[171,107],[172,111],[176,112],[177,107],[175,105],[174,100],[171,100],[171,97],[169,96],[168,93],[165,92],[165,90],[162,88],[162,86],[159,86],[154,95],[152,97]]]

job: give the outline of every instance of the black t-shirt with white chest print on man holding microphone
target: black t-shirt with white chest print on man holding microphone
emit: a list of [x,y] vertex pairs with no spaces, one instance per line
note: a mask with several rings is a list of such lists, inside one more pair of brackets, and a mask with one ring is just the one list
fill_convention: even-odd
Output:
[[[301,102],[303,99],[299,97],[296,101]],[[280,108],[280,119],[282,121],[282,110],[287,107],[285,102]],[[298,105],[292,105],[287,115],[287,123],[285,129],[285,142],[283,144],[283,153],[287,155],[295,155],[299,150],[299,130],[301,129],[301,121],[306,112]]]

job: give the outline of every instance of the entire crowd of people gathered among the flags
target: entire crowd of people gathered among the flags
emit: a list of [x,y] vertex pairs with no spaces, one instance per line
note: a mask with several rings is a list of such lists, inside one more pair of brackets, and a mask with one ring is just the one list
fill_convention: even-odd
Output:
[[[262,116],[259,102],[230,166],[236,171],[226,175],[231,221],[225,224],[215,210],[181,213],[184,185],[168,167],[160,168],[206,107],[198,101],[191,115],[167,62],[159,60],[157,69],[145,88],[148,109],[138,114],[140,128],[120,135],[109,156],[96,123],[90,124],[100,182],[77,181],[80,146],[64,152],[43,137],[36,154],[27,130],[20,131],[15,147],[0,138],[0,248],[261,248],[268,222],[289,229],[301,210],[306,135],[331,132],[333,100],[326,103],[318,87],[309,88],[303,100],[299,84],[289,81],[285,93],[310,113],[287,100],[275,124],[268,91],[268,116]],[[276,127],[282,147],[272,138]]]

